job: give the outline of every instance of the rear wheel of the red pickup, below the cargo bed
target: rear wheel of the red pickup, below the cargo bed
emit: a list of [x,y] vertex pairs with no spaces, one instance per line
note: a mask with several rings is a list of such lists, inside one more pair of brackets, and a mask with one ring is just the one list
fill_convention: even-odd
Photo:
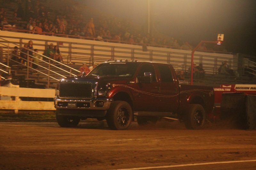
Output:
[[206,115],[204,107],[199,104],[189,105],[187,114],[185,115],[185,126],[187,129],[202,129],[205,121]]

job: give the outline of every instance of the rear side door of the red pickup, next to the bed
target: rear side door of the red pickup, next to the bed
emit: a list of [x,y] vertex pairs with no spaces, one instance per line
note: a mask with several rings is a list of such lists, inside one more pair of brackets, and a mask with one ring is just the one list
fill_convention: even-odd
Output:
[[167,64],[157,65],[160,74],[160,89],[162,95],[158,104],[163,112],[175,112],[179,107],[179,88],[172,76],[170,66]]

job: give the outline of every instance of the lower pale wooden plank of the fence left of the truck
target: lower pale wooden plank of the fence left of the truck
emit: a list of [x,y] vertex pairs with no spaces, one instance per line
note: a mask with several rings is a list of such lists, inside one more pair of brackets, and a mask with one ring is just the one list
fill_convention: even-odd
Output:
[[0,109],[7,110],[56,110],[52,101],[0,100]]

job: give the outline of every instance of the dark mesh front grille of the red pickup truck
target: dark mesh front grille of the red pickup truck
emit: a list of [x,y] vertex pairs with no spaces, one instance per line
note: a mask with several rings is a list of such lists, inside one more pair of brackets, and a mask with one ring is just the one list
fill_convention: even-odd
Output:
[[60,97],[91,98],[92,84],[88,82],[62,82],[60,83]]

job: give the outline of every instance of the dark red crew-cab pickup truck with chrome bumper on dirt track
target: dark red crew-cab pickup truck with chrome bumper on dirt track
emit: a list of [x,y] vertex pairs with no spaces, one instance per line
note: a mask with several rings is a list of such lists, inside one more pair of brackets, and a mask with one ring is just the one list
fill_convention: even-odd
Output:
[[54,106],[61,127],[97,118],[106,119],[110,129],[127,129],[136,116],[139,125],[169,118],[200,129],[213,110],[214,92],[179,84],[171,64],[120,60],[60,80]]

